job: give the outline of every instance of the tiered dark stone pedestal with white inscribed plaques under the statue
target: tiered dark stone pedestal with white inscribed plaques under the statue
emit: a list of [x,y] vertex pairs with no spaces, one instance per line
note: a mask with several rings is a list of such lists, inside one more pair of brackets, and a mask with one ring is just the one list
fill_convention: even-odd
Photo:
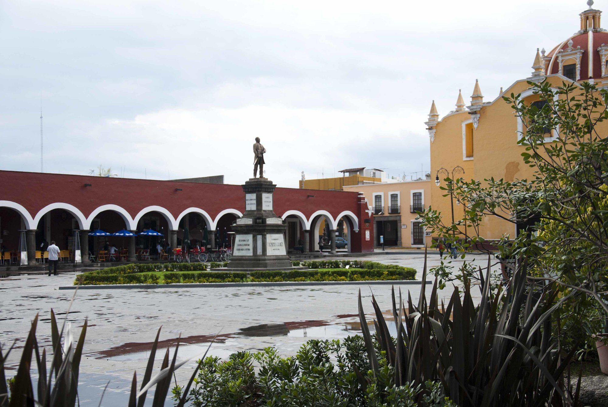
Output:
[[293,270],[285,246],[287,226],[273,210],[275,187],[266,178],[251,178],[243,185],[245,212],[232,226],[235,245],[228,270]]

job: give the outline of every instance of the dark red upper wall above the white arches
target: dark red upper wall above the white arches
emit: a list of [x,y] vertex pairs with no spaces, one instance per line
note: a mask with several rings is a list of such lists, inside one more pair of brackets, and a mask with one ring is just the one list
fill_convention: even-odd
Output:
[[[91,184],[91,187],[85,187]],[[240,185],[157,181],[151,179],[103,178],[98,176],[0,171],[0,200],[24,206],[33,217],[48,204],[68,203],[88,217],[105,204],[123,207],[134,218],[147,206],[167,209],[177,218],[188,207],[199,207],[214,218],[224,209],[244,212],[244,193]],[[176,189],[182,189],[176,191]],[[372,251],[373,236],[364,240],[363,219],[369,218],[357,192],[277,188],[274,211],[282,216],[287,210],[299,210],[309,218],[317,210],[326,210],[336,218],[350,210],[359,217],[357,233],[351,232],[352,251]]]

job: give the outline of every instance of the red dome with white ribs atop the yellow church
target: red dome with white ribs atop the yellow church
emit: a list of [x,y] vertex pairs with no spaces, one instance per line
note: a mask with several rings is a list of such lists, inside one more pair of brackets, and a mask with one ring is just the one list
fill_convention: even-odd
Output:
[[[592,35],[590,39],[589,36]],[[576,33],[570,38],[567,38],[563,43],[554,47],[551,52],[547,54],[551,60],[547,67],[547,74],[558,74],[559,63],[558,54],[560,50],[567,52],[568,41],[572,40],[572,49],[580,49],[583,51],[581,55],[581,80],[587,80],[589,78],[599,79],[602,77],[602,61],[601,56],[598,52],[598,47],[602,44],[608,45],[608,32],[605,31],[586,31],[583,33]],[[593,41],[591,49],[589,49],[590,40]],[[589,71],[589,63],[592,61],[592,71]]]

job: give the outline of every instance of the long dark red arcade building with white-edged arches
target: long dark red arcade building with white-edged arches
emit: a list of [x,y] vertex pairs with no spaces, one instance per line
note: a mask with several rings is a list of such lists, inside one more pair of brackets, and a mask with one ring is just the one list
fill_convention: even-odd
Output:
[[[44,240],[70,249],[74,230],[81,231],[83,262],[100,244],[88,235],[94,229],[154,229],[176,248],[187,227],[191,239],[208,234],[214,248],[215,234],[226,238],[245,209],[240,185],[15,171],[0,171],[0,185],[0,248],[18,251],[21,231],[26,231],[30,265]],[[358,192],[277,188],[274,211],[288,225],[288,249],[301,240],[304,252],[318,250],[322,225],[335,243],[336,229],[344,225],[349,252],[373,251],[372,211]],[[116,246],[128,246],[128,260],[136,260],[136,238],[111,238]],[[143,237],[137,242],[150,244]]]

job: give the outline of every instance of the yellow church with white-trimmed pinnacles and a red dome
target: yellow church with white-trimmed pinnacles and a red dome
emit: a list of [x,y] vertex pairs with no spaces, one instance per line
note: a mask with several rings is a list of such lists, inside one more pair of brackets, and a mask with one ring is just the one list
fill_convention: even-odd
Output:
[[[562,82],[582,81],[608,86],[608,32],[601,29],[601,11],[592,9],[593,1],[587,4],[590,5],[589,9],[579,15],[579,31],[548,53],[544,49],[536,50],[530,77],[516,80],[489,101],[484,101],[476,80],[470,105],[466,106],[459,92],[455,110],[441,118],[435,102],[432,103],[425,124],[429,131],[430,173],[434,181],[444,185],[447,176],[482,182],[491,177],[505,181],[531,178],[533,169],[524,164],[521,157],[525,147],[517,145],[517,141],[525,135],[525,127],[502,97],[513,93],[520,94],[528,105],[545,103],[539,101],[527,83],[541,82],[545,78],[553,86],[560,86]],[[545,142],[552,142],[559,134],[553,130],[546,136]],[[443,197],[443,194],[444,191],[433,184],[430,194],[433,209],[440,210],[446,223],[449,223],[453,206],[454,217],[460,219],[463,206],[451,202],[450,197]],[[508,221],[488,217],[480,234],[491,239],[506,234],[513,237],[516,228]]]

